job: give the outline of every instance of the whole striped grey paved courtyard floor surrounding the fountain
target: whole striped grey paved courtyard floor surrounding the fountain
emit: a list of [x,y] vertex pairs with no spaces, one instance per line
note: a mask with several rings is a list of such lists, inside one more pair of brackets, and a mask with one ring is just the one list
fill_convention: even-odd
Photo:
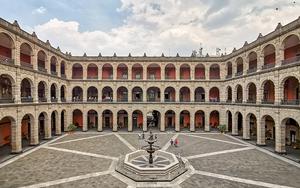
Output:
[[[147,135],[147,133],[146,133]],[[300,164],[219,133],[157,133],[189,170],[172,182],[137,183],[117,173],[139,149],[137,133],[65,134],[0,164],[0,187],[300,187]],[[179,146],[170,146],[177,138]]]

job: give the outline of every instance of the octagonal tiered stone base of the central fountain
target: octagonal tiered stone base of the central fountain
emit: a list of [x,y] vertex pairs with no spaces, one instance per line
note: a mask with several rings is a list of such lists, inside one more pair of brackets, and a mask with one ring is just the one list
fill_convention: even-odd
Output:
[[116,171],[137,182],[172,181],[187,171],[181,158],[172,153],[158,150],[149,164],[149,154],[144,150],[126,154],[119,159]]

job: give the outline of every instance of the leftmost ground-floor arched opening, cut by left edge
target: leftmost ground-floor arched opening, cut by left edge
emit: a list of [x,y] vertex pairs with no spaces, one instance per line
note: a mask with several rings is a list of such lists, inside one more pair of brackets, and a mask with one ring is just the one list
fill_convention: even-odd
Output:
[[12,151],[12,126],[16,126],[15,124],[16,122],[12,117],[3,117],[0,120],[0,160]]

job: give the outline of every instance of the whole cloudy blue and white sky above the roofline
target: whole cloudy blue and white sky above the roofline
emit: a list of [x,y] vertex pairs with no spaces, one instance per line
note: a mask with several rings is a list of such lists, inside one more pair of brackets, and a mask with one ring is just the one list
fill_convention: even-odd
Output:
[[72,55],[229,54],[300,16],[300,0],[0,0],[0,17]]

